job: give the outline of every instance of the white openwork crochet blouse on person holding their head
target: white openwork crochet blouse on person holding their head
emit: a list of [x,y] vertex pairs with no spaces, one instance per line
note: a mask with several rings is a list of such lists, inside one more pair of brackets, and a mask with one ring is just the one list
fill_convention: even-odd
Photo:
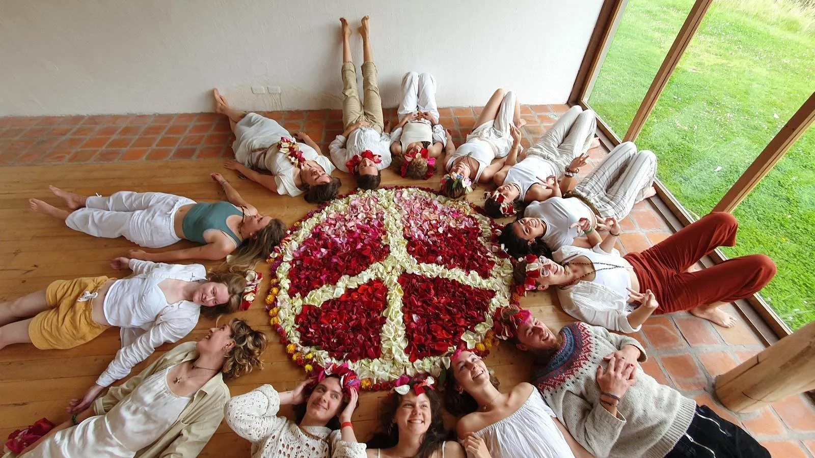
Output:
[[346,443],[324,426],[299,426],[280,410],[280,395],[261,385],[227,402],[227,425],[252,443],[253,458],[365,458],[364,443]]

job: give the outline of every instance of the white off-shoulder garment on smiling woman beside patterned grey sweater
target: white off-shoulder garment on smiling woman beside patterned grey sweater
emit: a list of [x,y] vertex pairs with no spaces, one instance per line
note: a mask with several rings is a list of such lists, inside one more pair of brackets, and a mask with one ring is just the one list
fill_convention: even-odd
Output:
[[574,458],[538,390],[512,415],[475,432],[492,458]]

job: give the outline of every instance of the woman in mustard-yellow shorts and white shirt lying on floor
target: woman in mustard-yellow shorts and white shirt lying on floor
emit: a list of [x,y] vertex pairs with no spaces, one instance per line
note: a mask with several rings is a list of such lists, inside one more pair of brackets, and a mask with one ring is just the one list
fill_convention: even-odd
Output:
[[114,381],[126,377],[156,347],[177,342],[196,327],[200,314],[215,317],[240,307],[245,273],[210,272],[204,266],[116,258],[107,276],[56,280],[48,288],[0,304],[0,349],[31,342],[40,350],[63,350],[121,328],[121,349],[85,396],[71,406],[85,410]]

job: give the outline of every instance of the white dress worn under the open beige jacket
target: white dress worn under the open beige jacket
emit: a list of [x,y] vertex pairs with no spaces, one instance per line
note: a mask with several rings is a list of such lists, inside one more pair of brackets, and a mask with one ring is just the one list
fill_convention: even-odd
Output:
[[57,432],[26,457],[135,456],[165,434],[192,399],[170,390],[167,372],[171,368],[144,379],[107,414]]

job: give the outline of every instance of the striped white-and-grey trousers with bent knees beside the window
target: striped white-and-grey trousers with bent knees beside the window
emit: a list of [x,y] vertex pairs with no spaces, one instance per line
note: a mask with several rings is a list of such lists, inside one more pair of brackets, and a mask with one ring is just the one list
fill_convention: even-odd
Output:
[[603,218],[623,219],[654,185],[657,156],[624,142],[575,186],[574,193],[592,203]]

